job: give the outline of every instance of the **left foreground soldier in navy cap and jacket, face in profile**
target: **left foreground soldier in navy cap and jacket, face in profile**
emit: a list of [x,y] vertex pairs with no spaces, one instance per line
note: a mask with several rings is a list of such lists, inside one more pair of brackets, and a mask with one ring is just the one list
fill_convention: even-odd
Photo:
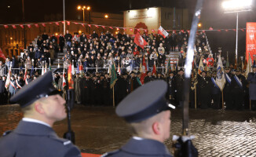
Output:
[[56,91],[53,75],[48,71],[11,98],[20,104],[24,118],[0,139],[2,157],[81,156],[79,148],[52,129],[54,122],[67,117],[65,100]]

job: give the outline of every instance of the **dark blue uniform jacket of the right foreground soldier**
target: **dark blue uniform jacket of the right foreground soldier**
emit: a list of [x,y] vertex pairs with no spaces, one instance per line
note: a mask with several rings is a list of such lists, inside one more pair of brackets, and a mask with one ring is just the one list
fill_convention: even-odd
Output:
[[122,148],[115,152],[109,152],[101,157],[171,157],[166,146],[155,140],[142,139],[136,140],[131,138]]

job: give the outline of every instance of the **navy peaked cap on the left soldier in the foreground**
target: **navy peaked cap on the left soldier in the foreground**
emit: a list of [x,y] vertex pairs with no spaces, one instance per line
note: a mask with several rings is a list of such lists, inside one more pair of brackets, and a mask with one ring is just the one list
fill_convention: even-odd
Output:
[[53,74],[51,71],[48,71],[46,74],[20,89],[11,97],[10,101],[20,104],[20,107],[24,108],[41,97],[47,97],[53,94],[57,94],[57,89],[53,87]]

